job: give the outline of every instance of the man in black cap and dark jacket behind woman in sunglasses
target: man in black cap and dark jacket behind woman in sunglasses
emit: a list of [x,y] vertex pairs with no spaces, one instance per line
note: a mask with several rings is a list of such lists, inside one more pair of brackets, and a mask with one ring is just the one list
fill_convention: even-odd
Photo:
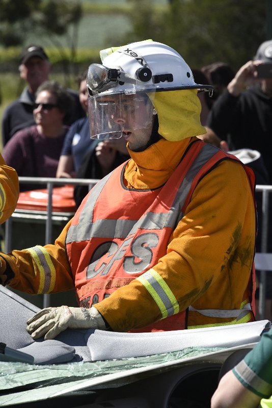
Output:
[[[27,86],[20,97],[11,103],[3,113],[3,146],[17,131],[34,124],[35,92],[44,81],[48,80],[51,67],[48,56],[40,45],[30,44],[22,49],[19,57],[19,72],[21,79],[27,82]],[[80,106],[77,93],[72,90],[68,91],[75,100],[75,110],[70,120],[70,123],[73,123],[85,113]]]

